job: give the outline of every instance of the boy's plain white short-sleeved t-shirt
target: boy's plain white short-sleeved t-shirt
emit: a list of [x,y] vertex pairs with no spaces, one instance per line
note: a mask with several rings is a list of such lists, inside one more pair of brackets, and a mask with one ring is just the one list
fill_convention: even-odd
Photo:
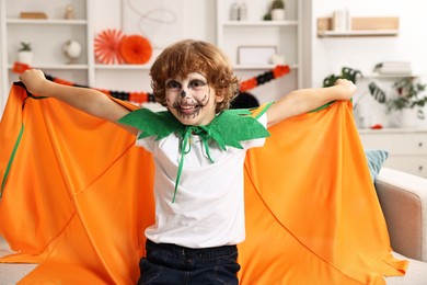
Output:
[[[267,117],[258,122],[266,126]],[[183,158],[181,137],[171,134],[137,139],[136,145],[153,155],[155,162],[155,224],[147,228],[146,237],[153,242],[175,243],[188,248],[210,248],[236,244],[245,238],[243,166],[246,150],[261,147],[265,138],[241,141],[243,149],[221,150],[209,142],[206,155],[201,139],[191,138],[191,150]],[[180,159],[184,159],[175,202],[172,203]]]

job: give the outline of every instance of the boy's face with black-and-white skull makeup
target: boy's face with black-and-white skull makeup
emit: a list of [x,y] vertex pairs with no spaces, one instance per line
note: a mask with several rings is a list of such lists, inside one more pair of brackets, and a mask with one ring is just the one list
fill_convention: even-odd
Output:
[[208,84],[205,76],[192,72],[185,79],[166,81],[166,104],[170,112],[184,125],[203,126],[215,117],[221,98]]

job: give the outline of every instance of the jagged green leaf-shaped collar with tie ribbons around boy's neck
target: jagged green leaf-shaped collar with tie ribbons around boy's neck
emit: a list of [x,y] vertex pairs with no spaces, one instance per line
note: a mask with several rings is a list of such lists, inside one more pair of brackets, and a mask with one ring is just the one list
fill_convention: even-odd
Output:
[[[259,117],[268,107],[269,105],[267,105],[257,117]],[[243,140],[269,136],[268,130],[256,119],[256,117],[252,116],[252,113],[247,109],[223,111],[206,126],[187,126],[177,121],[169,111],[152,112],[148,109],[136,110],[122,117],[118,123],[142,130],[138,136],[138,139],[155,136],[155,140],[159,140],[168,137],[172,133],[180,134],[182,138],[180,142],[182,157],[180,159],[172,203],[175,202],[177,185],[184,166],[184,156],[191,151],[188,141],[192,135],[198,135],[200,137],[211,163],[215,161],[209,153],[209,140],[215,140],[219,148],[227,151],[227,146],[242,149],[243,147],[240,142]]]

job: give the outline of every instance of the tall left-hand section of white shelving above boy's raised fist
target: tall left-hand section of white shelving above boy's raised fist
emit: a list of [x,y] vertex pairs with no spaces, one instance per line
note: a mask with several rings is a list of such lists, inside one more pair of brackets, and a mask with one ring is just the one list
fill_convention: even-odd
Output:
[[[65,19],[66,8],[73,7],[74,18]],[[47,19],[21,19],[21,12],[43,12]],[[34,60],[31,67],[45,72],[65,76],[82,84],[93,82],[93,36],[90,0],[27,1],[0,0],[1,34],[1,96],[2,111],[9,89],[19,75],[13,73],[21,42],[32,45]],[[67,64],[62,45],[74,39],[81,44],[82,54],[76,64]]]

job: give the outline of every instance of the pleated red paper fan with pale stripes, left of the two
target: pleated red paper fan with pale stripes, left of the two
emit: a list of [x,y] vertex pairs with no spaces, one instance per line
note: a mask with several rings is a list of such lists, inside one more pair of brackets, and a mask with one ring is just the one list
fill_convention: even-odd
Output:
[[94,41],[94,52],[97,61],[107,65],[123,64],[119,46],[124,38],[122,31],[115,29],[102,31]]

